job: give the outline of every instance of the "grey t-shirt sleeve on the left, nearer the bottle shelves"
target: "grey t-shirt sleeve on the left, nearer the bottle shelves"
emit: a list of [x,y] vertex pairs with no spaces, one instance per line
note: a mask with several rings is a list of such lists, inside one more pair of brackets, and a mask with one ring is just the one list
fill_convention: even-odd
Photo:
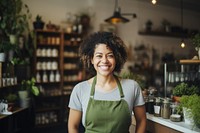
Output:
[[82,111],[81,88],[79,84],[72,90],[68,107],[74,110]]

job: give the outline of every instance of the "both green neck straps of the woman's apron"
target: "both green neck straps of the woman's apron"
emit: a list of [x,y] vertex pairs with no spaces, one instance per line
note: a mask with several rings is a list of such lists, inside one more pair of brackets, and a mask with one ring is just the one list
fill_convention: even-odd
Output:
[[[119,79],[118,79],[118,77],[116,75],[114,75],[114,77],[116,79],[117,86],[119,88],[120,97],[123,98],[124,97],[124,93],[123,93],[123,90],[122,90],[121,83],[120,83],[120,81],[119,81]],[[97,82],[97,76],[94,77],[93,82],[92,82],[92,88],[91,88],[91,92],[90,92],[90,96],[91,97],[94,97],[96,82]]]

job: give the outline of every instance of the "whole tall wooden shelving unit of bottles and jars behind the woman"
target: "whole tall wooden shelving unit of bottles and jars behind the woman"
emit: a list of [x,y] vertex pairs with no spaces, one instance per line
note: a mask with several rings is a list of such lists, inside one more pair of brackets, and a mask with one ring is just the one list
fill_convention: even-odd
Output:
[[[67,103],[71,91],[83,79],[78,55],[82,34],[46,30],[35,32],[37,45],[33,71],[37,85],[42,90],[41,95],[35,98],[36,127],[40,128],[62,124],[68,118]],[[52,55],[53,51],[57,51],[57,54]],[[54,74],[59,72],[59,81],[50,80],[52,71]],[[47,74],[47,81],[43,79],[44,72]],[[40,78],[37,80],[38,75]]]

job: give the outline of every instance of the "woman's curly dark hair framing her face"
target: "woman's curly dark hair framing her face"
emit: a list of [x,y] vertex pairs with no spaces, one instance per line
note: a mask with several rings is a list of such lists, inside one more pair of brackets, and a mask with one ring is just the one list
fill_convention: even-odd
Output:
[[127,60],[126,45],[120,37],[111,32],[95,32],[83,40],[79,48],[79,54],[86,70],[91,74],[96,73],[91,64],[91,59],[94,56],[96,45],[100,43],[106,44],[112,50],[116,60],[114,72],[120,72]]

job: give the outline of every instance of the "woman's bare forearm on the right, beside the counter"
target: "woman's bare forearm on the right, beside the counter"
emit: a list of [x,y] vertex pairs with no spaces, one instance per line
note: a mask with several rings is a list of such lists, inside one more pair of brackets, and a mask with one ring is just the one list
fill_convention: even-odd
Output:
[[135,133],[145,133],[146,130],[146,110],[145,105],[135,106],[134,116],[136,119],[136,130]]

